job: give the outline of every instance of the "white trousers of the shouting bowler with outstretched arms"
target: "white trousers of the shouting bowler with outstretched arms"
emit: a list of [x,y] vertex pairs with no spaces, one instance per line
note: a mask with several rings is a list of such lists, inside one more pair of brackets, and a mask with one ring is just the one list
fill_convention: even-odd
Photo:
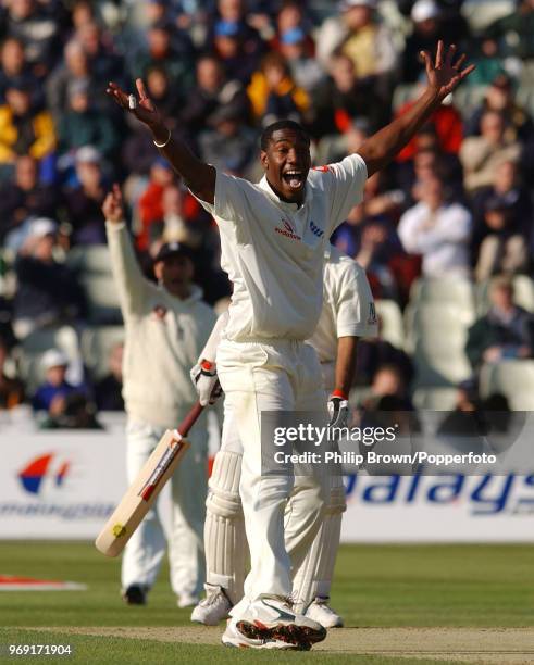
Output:
[[[291,565],[300,566],[321,525],[328,478],[321,465],[314,467],[313,476],[262,477],[261,412],[313,411],[324,414],[326,424],[321,367],[310,346],[290,340],[223,340],[216,364],[244,449],[239,493],[250,548],[244,603],[262,595],[288,597]],[[286,515],[284,529],[289,497],[299,510]],[[235,612],[240,612],[239,606]]]

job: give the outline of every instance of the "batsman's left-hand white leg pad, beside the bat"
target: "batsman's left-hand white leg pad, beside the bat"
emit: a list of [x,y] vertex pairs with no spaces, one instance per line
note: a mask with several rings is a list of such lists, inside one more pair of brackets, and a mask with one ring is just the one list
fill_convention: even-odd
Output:
[[243,598],[248,557],[239,498],[241,459],[239,453],[218,452],[206,501],[206,581],[223,587],[234,604]]

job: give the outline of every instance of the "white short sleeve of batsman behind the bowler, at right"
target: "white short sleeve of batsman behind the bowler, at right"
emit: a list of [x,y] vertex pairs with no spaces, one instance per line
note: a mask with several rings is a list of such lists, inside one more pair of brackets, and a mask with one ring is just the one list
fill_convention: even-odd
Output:
[[338,287],[337,337],[376,337],[378,326],[374,299],[363,269],[350,266]]

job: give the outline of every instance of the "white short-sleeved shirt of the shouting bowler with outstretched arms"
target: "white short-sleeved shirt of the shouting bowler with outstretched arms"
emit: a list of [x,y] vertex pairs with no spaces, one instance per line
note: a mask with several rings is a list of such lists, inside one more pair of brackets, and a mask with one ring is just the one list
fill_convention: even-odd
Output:
[[214,204],[200,201],[221,233],[221,267],[234,284],[225,337],[305,340],[323,301],[323,255],[332,233],[363,198],[365,162],[351,154],[311,170],[302,205],[216,172]]

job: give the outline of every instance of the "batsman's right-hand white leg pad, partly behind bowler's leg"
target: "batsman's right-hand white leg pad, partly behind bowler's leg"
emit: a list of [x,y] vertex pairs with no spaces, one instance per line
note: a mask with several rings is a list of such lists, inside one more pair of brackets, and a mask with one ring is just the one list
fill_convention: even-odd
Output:
[[341,516],[346,511],[340,476],[332,476],[330,500],[321,527],[293,580],[294,607],[305,612],[316,597],[328,597],[339,548]]

